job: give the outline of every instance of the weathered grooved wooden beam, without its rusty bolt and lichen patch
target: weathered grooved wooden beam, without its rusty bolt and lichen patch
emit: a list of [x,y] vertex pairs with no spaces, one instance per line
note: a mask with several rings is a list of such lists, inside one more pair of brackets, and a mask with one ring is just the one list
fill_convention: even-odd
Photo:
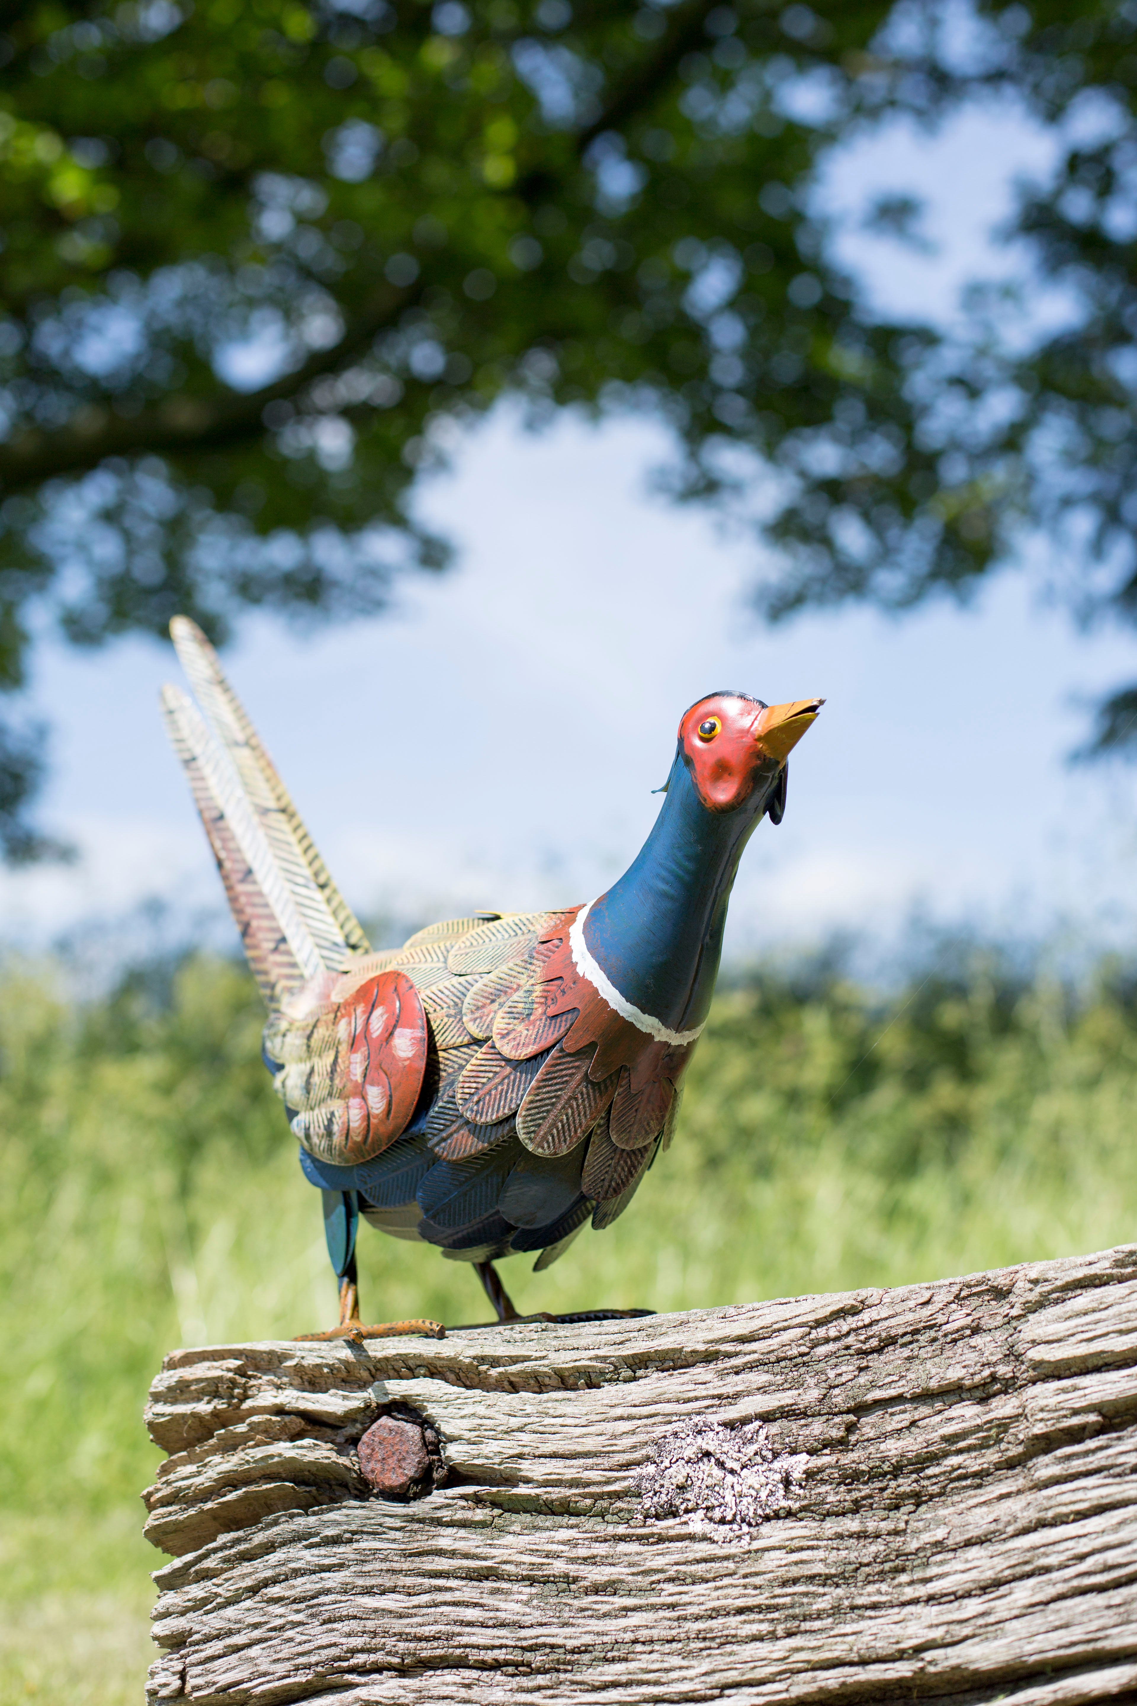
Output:
[[[368,1496],[385,1406],[450,1484]],[[677,1423],[805,1454],[745,1539],[648,1520]],[[176,1351],[152,1701],[1137,1701],[1137,1245],[445,1341]],[[694,1430],[714,1435],[716,1430]],[[788,1483],[789,1486],[791,1483]]]

